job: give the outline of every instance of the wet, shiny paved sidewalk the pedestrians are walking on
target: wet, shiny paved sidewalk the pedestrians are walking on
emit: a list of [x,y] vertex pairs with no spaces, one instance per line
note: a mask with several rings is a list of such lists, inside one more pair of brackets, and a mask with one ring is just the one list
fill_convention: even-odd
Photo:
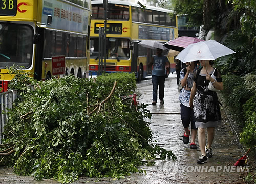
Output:
[[[242,173],[232,165],[241,156],[241,146],[237,144],[230,125],[222,113],[222,124],[216,128],[214,144],[212,145],[213,158],[204,165],[197,165],[201,155],[198,140],[197,150],[191,150],[184,145],[182,137],[184,129],[180,119],[179,92],[177,91],[176,74],[170,74],[165,82],[164,105],[158,101],[156,106],[152,102],[151,79],[137,84],[137,92],[141,94],[139,102],[150,104],[147,109],[152,113],[150,128],[153,140],[167,149],[172,150],[177,160],[155,160],[154,166],[141,166],[147,174],[131,174],[124,179],[112,178],[85,178],[74,183],[243,183],[238,177]],[[57,183],[53,180],[34,181],[32,177],[16,176],[11,169],[0,169],[0,183]]]

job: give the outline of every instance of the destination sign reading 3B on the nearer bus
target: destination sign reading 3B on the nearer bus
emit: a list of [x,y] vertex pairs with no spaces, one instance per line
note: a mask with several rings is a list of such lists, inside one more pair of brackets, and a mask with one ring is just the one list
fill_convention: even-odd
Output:
[[0,16],[16,16],[17,0],[0,1]]

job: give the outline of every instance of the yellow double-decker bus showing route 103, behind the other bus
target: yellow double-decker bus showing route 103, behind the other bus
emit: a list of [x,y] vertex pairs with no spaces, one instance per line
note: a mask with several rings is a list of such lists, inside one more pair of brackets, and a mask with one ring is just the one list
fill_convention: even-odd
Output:
[[[171,10],[141,7],[126,1],[109,1],[106,31],[106,72],[135,72],[140,80],[151,74],[148,67],[152,49],[138,45],[141,40],[165,43],[178,37],[177,18]],[[104,27],[103,0],[92,1],[90,71],[99,69],[99,28]],[[167,55],[167,53],[166,53]],[[103,66],[104,69],[104,66]]]

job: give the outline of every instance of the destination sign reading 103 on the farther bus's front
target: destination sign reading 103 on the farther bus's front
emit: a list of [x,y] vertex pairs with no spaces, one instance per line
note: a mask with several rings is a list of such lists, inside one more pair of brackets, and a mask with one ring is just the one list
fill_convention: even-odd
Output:
[[[99,28],[104,28],[104,23],[95,23],[94,33],[99,34]],[[106,25],[107,34],[122,34],[122,24],[108,23]]]

